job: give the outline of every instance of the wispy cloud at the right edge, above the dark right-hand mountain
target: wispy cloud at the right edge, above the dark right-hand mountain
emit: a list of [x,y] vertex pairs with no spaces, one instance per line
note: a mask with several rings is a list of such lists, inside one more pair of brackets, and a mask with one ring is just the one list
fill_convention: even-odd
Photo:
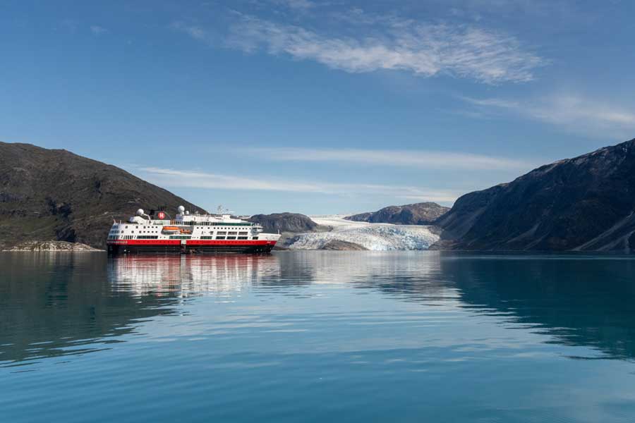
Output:
[[609,102],[579,95],[552,95],[524,102],[489,98],[460,97],[481,111],[514,113],[581,133],[628,136],[635,130],[635,108],[615,106]]

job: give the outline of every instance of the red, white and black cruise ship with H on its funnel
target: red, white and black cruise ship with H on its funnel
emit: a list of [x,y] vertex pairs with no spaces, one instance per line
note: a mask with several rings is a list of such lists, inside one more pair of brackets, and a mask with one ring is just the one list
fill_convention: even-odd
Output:
[[198,214],[176,209],[172,219],[165,211],[145,214],[138,209],[126,222],[114,222],[108,233],[113,255],[152,254],[257,254],[271,252],[278,233],[263,233],[259,223],[230,214]]

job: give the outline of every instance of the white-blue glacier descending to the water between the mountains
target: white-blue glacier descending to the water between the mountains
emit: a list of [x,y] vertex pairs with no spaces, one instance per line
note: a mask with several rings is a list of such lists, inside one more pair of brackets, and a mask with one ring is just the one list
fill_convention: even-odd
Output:
[[298,233],[285,245],[290,250],[319,250],[332,240],[356,243],[373,251],[428,250],[439,240],[430,226],[347,221],[346,215],[310,216],[330,231]]

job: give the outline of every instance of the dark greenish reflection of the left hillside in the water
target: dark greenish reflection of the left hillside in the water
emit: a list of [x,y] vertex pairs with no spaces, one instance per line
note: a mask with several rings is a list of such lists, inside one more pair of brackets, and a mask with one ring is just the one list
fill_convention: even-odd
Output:
[[[109,348],[174,299],[113,293],[99,254],[6,254],[0,265],[0,362]],[[99,340],[99,342],[97,342]]]

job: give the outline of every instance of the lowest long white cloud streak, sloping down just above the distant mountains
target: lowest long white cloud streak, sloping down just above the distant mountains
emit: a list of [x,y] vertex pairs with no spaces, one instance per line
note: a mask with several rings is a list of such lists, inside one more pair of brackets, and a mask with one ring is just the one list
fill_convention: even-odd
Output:
[[243,178],[199,171],[144,167],[139,168],[144,178],[167,187],[207,188],[214,190],[257,190],[308,192],[331,195],[382,195],[395,198],[454,202],[462,192],[435,190],[413,186],[376,185],[359,183],[322,183],[298,180]]

